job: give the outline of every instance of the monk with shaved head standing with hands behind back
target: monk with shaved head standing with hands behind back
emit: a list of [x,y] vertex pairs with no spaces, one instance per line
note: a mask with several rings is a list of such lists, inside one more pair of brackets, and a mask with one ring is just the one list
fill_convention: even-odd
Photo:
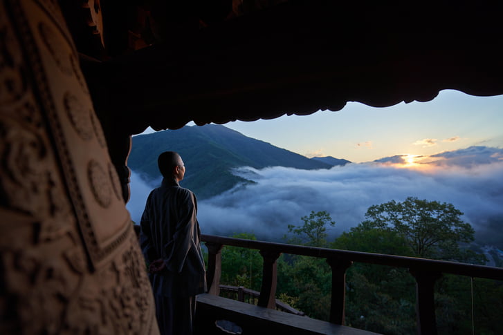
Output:
[[190,335],[196,294],[206,291],[197,202],[192,191],[179,185],[185,166],[178,153],[161,153],[158,167],[163,182],[147,198],[140,245],[149,265],[161,334]]

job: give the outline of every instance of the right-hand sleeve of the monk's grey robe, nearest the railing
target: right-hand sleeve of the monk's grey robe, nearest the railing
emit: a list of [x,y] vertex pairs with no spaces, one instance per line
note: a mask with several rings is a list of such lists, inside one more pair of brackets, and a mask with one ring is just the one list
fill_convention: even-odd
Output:
[[173,234],[173,240],[166,246],[167,269],[180,273],[185,264],[185,259],[193,245],[192,235],[196,225],[196,208],[192,200],[192,193],[186,191],[179,198],[179,220]]

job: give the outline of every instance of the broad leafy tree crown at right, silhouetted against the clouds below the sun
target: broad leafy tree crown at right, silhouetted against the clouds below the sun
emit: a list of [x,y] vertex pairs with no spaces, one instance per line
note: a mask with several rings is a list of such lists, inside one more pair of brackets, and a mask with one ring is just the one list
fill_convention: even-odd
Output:
[[459,247],[475,239],[475,231],[461,220],[462,215],[452,204],[408,197],[404,202],[392,200],[369,207],[365,224],[403,236],[413,256],[484,262],[485,256]]

